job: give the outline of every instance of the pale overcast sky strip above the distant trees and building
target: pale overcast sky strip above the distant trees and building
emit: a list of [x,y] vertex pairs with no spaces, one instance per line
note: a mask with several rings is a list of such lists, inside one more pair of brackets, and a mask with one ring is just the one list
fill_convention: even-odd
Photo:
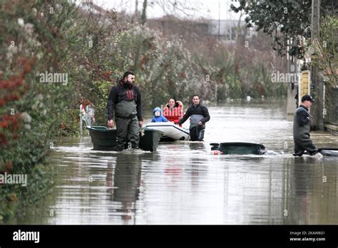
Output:
[[[180,3],[186,3],[184,0],[176,0]],[[135,11],[135,0],[93,0],[98,6],[105,9],[115,9],[116,11],[126,11],[128,14]],[[154,4],[150,4],[154,2]],[[148,18],[157,18],[165,14],[163,9],[155,4],[156,2],[167,2],[165,0],[148,0],[149,8],[147,10]],[[189,6],[192,6],[196,11],[185,11],[190,14],[190,18],[205,18],[205,19],[238,19],[239,15],[230,10],[230,4],[236,4],[231,0],[189,0]],[[142,11],[143,0],[138,0],[138,10]],[[219,8],[220,6],[220,8]],[[181,11],[168,11],[167,14],[174,14],[178,17],[185,17]]]

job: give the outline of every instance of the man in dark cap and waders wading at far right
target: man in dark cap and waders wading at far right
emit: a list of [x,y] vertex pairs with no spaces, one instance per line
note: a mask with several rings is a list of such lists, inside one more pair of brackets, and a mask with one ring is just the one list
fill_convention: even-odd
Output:
[[311,107],[314,100],[310,95],[304,95],[302,97],[302,104],[295,111],[293,120],[293,140],[295,141],[295,153],[294,156],[302,156],[304,151],[307,150],[310,155],[318,153],[317,148],[312,143],[310,138],[310,125],[312,117],[309,114],[309,107]]

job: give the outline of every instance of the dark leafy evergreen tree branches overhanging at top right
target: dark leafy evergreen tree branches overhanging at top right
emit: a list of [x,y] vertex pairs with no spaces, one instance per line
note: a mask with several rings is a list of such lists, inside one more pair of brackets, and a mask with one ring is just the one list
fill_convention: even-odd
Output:
[[[289,40],[297,36],[311,37],[311,5],[312,0],[240,0],[240,6],[231,5],[232,11],[244,11],[247,14],[247,27],[257,26],[273,39],[272,48],[281,56],[286,55]],[[324,16],[337,11],[336,0],[322,0],[321,11]],[[302,58],[304,46],[293,42],[290,46],[290,56]]]

